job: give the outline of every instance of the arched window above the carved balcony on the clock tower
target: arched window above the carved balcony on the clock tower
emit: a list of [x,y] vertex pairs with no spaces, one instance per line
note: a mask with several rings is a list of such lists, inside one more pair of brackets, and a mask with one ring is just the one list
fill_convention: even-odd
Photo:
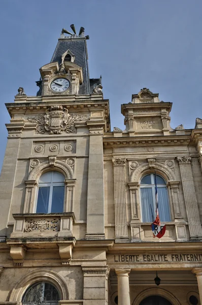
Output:
[[64,176],[51,171],[41,175],[37,198],[37,213],[61,213],[64,203]]

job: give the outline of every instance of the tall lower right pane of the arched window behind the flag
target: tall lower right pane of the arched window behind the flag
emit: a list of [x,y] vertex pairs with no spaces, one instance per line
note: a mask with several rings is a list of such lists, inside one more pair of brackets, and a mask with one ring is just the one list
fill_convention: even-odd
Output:
[[169,201],[167,199],[166,188],[157,188],[158,193],[158,210],[160,221],[171,221]]

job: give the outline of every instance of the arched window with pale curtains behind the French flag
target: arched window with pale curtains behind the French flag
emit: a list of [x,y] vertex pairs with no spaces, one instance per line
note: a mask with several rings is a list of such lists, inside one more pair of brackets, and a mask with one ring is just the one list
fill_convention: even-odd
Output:
[[[164,179],[156,175],[158,193],[158,211],[162,222],[171,221],[170,206],[167,196],[167,188]],[[140,184],[142,221],[153,222],[155,220],[156,199],[155,199],[155,175],[149,174],[142,178]]]

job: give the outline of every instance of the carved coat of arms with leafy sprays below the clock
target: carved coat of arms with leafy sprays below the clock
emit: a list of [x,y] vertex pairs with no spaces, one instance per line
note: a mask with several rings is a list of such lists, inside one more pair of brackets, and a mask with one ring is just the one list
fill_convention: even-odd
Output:
[[37,133],[44,134],[46,131],[52,134],[75,133],[75,122],[85,120],[85,115],[69,114],[63,106],[51,106],[44,115],[27,118],[31,123],[37,124]]

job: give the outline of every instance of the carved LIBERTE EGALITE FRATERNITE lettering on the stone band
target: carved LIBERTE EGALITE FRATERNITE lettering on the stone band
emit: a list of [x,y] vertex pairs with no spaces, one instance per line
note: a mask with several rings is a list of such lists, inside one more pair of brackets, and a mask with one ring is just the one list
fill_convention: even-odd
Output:
[[114,262],[202,262],[202,254],[122,254],[114,255]]

